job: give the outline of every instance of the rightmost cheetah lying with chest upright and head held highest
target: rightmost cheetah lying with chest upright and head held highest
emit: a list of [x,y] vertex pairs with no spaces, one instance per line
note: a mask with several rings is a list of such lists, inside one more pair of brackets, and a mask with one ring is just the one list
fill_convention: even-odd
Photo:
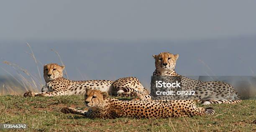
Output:
[[[234,104],[241,102],[241,97],[234,90],[232,85],[220,81],[209,81],[204,82],[200,80],[193,80],[188,77],[183,77],[177,74],[174,70],[176,65],[176,60],[179,55],[173,55],[169,52],[161,52],[159,55],[153,55],[155,59],[156,70],[153,73],[153,77],[163,77],[166,82],[168,80],[177,80],[181,81],[182,90],[195,90],[195,95],[188,97],[183,96],[184,99],[189,100],[197,100],[201,101],[203,105],[208,104]],[[151,90],[154,87],[154,90],[157,91],[159,89],[156,88],[155,80],[151,80]],[[168,90],[175,91],[173,88],[169,88]],[[177,89],[176,89],[177,90]],[[153,93],[151,93],[152,95]],[[140,95],[141,100],[151,100],[151,95]],[[171,96],[163,96],[160,97],[162,100],[173,100],[175,95]],[[177,100],[177,98],[175,98]],[[174,99],[174,100],[175,100]]]

